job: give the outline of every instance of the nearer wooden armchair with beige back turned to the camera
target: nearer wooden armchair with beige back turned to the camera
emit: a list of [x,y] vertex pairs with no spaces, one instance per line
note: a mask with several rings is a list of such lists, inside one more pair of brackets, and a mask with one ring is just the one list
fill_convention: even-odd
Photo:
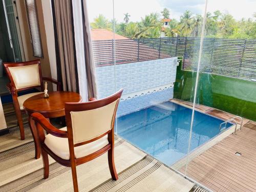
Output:
[[[118,179],[114,163],[114,123],[122,91],[100,100],[92,98],[85,103],[66,103],[67,127],[59,130],[41,114],[32,114],[38,130],[45,179],[49,177],[49,154],[61,165],[71,167],[74,191],[78,191],[76,166],[107,151],[112,179]],[[45,136],[44,130],[48,135]]]

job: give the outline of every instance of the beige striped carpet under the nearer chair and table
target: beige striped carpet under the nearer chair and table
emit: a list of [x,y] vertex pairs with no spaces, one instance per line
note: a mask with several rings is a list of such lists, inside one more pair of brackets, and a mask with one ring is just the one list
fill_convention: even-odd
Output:
[[[50,175],[43,179],[42,160],[33,157],[33,142],[0,153],[1,192],[73,191],[70,167],[50,158]],[[77,166],[79,191],[190,191],[194,186],[118,137],[115,137],[115,164],[117,181],[111,179],[107,154]]]

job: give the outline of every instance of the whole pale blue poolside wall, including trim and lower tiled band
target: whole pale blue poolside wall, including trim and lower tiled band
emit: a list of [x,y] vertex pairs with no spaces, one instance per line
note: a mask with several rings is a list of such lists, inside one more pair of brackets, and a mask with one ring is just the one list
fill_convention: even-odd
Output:
[[173,98],[176,70],[177,57],[97,67],[99,97],[123,88],[118,116],[147,108]]

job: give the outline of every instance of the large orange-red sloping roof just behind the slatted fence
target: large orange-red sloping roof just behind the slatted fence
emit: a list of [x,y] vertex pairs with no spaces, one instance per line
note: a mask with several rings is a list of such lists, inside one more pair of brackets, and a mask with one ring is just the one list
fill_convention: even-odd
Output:
[[[106,40],[99,41],[94,44],[94,59],[96,66],[113,65],[113,52],[114,47],[112,44],[113,32],[106,29],[92,29],[92,40]],[[129,39],[122,35],[115,33],[115,40],[117,44],[115,47],[115,60],[116,63],[122,64],[127,62],[136,62],[150,59],[159,58],[159,48],[151,47],[143,42],[138,42],[134,39]],[[97,49],[95,49],[97,48]],[[161,52],[161,58],[168,57],[165,52]]]

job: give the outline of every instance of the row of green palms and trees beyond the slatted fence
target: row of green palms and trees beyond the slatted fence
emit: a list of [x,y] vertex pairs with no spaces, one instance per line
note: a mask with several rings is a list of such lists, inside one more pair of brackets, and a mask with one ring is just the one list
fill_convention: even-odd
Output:
[[[163,18],[169,18],[168,9],[162,12]],[[151,13],[141,17],[140,22],[130,22],[129,13],[124,14],[124,22],[117,23],[115,20],[115,32],[128,38],[158,38],[162,31],[161,18],[158,13]],[[103,15],[99,15],[91,23],[92,29],[113,30],[113,20],[109,22]],[[180,20],[172,19],[169,26],[164,30],[165,36],[176,37],[200,37],[203,16],[185,11]],[[206,14],[205,37],[216,38],[256,38],[256,13],[252,18],[236,20],[228,13],[219,10]]]

